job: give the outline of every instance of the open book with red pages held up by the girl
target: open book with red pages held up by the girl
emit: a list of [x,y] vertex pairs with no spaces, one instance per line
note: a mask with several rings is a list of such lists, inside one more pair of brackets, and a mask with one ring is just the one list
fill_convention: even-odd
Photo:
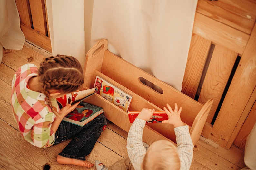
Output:
[[79,92],[74,92],[74,95],[72,95],[71,93],[65,94],[64,99],[60,97],[60,98],[57,98],[56,100],[61,109],[68,104],[73,105],[77,102],[81,102],[87,97],[93,95],[94,93],[95,93],[95,88],[91,88],[87,90],[81,90]]

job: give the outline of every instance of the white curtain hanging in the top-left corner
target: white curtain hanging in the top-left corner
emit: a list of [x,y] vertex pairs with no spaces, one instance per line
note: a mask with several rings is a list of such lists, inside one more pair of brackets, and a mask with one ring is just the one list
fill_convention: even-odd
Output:
[[25,36],[20,29],[20,17],[15,0],[0,0],[0,64],[5,49],[20,50]]

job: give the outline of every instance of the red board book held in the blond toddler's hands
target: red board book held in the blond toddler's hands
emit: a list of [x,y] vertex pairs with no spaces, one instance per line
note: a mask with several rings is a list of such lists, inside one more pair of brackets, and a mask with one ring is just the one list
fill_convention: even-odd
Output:
[[[136,117],[139,115],[140,112],[138,111],[128,111],[128,118],[130,123],[133,123],[133,121],[136,119]],[[164,111],[156,111],[151,116],[149,120],[146,121],[146,123],[162,123],[163,120],[167,120],[168,115]]]

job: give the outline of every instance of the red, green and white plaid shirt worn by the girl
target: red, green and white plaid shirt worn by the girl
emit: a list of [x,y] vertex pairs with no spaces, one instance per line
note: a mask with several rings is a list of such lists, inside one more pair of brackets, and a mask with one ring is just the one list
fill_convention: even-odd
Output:
[[[56,115],[43,93],[27,88],[28,80],[37,76],[37,72],[34,64],[25,64],[18,69],[12,80],[11,104],[20,134],[32,145],[45,148],[54,143],[51,125]],[[58,108],[56,99],[52,99],[52,104]]]

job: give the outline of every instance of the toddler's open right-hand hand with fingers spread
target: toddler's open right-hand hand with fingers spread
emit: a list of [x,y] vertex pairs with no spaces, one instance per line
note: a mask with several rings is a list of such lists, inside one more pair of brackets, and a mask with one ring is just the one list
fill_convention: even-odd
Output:
[[168,115],[168,120],[164,120],[162,121],[162,123],[169,123],[172,124],[174,126],[174,128],[178,127],[178,126],[184,126],[184,123],[181,121],[181,107],[178,110],[178,105],[177,103],[175,103],[175,108],[174,111],[172,110],[171,106],[169,104],[166,104],[168,110],[166,109],[166,107],[163,107],[164,111],[166,112],[166,114]]

